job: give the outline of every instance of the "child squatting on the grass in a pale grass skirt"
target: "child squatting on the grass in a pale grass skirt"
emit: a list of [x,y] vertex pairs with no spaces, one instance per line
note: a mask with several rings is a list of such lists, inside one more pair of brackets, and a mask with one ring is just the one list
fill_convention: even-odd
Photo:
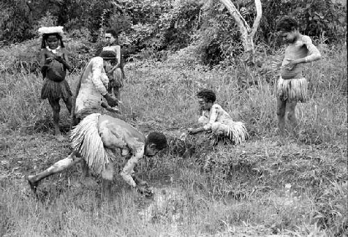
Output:
[[198,124],[202,126],[198,129],[189,129],[189,134],[212,131],[217,136],[230,138],[235,144],[246,140],[248,132],[244,124],[242,122],[234,122],[219,104],[214,104],[216,95],[212,90],[200,90],[197,93],[197,97],[200,108],[203,110],[202,116],[198,119]]

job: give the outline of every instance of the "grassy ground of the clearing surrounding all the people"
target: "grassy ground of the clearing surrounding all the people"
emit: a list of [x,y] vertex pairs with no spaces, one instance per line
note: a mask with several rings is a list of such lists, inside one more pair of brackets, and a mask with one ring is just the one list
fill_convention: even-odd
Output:
[[[139,163],[157,192],[153,200],[116,176],[115,197],[104,202],[99,187],[81,186],[79,167],[42,182],[35,199],[24,177],[67,156],[70,147],[52,136],[40,76],[3,71],[0,236],[347,236],[347,49],[319,50],[322,60],[305,70],[310,100],[296,109],[303,140],[288,136],[283,146],[274,145],[276,73],[239,64],[208,70],[184,51],[165,62],[127,64],[120,117],[171,138],[167,152]],[[272,56],[263,58],[267,64]],[[68,76],[72,88],[78,76]],[[217,103],[246,123],[248,142],[213,149],[192,140],[193,156],[177,154],[182,144],[174,138],[194,126],[200,88],[214,89]],[[69,122],[62,104],[65,132]]]

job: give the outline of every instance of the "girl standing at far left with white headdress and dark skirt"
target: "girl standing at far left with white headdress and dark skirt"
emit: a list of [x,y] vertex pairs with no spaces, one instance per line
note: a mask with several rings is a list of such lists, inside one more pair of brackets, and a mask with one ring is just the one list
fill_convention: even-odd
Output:
[[68,54],[61,34],[63,26],[41,27],[42,34],[40,65],[43,79],[41,99],[48,99],[53,111],[54,132],[58,141],[63,140],[59,130],[59,100],[63,99],[69,113],[72,109],[72,92],[65,80],[66,70],[70,70]]

